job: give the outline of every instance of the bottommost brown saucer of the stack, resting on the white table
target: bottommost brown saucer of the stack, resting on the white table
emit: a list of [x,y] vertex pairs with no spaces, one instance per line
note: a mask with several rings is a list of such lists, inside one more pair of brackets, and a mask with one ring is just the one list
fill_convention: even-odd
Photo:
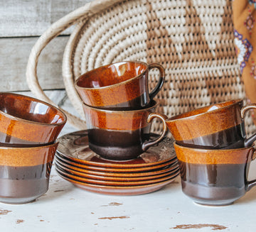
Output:
[[[58,170],[56,170],[58,172]],[[119,195],[119,196],[132,196],[132,195],[139,195],[139,194],[147,194],[150,192],[155,192],[162,187],[166,186],[167,184],[170,184],[174,181],[175,177],[177,177],[179,174],[176,173],[171,179],[165,180],[163,182],[158,182],[154,184],[144,184],[139,186],[107,186],[107,185],[100,185],[100,184],[88,184],[85,182],[80,182],[78,180],[75,180],[73,178],[67,177],[66,175],[62,175],[60,172],[58,172],[58,175],[60,177],[63,177],[63,179],[68,180],[69,182],[73,183],[76,187],[79,187],[80,189],[87,190],[89,192],[95,192],[98,194],[107,194],[107,195]]]

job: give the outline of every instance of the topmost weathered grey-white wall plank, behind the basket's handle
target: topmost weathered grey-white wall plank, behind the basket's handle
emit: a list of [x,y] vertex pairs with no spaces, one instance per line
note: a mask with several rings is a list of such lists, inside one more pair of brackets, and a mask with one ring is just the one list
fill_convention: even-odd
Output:
[[[0,37],[41,35],[55,21],[92,0],[10,0],[0,4]],[[72,28],[63,34],[68,35]]]

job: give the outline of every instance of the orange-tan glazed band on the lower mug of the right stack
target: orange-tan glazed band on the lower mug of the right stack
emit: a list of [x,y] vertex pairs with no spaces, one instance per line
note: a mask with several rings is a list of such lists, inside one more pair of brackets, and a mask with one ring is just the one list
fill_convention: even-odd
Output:
[[246,163],[254,153],[254,148],[203,150],[181,147],[176,143],[174,143],[174,148],[178,160],[200,165],[242,164]]

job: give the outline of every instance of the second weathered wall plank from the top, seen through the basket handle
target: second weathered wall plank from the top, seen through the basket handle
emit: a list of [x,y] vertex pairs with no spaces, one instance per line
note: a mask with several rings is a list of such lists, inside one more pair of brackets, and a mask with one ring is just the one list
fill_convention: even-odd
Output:
[[[69,36],[59,36],[43,50],[38,61],[38,79],[43,89],[63,89],[62,58]],[[38,37],[1,38],[1,92],[27,91],[26,65]]]

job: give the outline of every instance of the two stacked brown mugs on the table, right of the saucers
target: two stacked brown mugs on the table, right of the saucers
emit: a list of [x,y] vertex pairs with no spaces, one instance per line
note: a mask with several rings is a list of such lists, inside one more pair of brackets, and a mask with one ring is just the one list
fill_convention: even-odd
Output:
[[235,99],[166,119],[176,140],[183,193],[196,203],[232,204],[255,186],[256,180],[247,179],[256,140],[256,134],[246,138],[249,109],[256,104]]

